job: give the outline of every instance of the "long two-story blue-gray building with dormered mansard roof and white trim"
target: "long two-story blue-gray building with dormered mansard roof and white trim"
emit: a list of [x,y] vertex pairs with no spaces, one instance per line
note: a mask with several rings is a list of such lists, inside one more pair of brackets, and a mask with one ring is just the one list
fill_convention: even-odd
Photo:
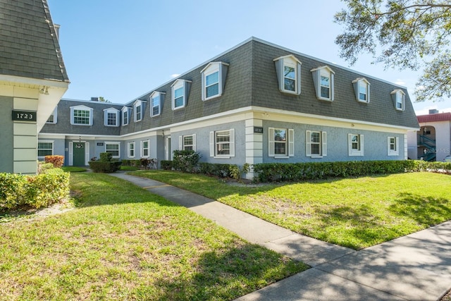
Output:
[[404,160],[418,128],[404,87],[252,37],[125,105],[61,99],[39,154],[66,165],[173,149],[238,165]]

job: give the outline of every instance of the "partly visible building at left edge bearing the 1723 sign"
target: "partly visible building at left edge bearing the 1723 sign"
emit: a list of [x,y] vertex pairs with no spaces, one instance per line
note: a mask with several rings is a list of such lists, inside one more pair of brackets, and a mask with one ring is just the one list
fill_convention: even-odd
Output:
[[68,89],[47,0],[0,0],[0,172],[37,172],[37,134]]

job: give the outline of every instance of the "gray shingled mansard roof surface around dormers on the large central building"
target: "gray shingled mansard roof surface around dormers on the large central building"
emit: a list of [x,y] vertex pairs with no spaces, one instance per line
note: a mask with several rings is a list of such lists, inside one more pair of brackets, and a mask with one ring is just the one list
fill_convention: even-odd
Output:
[[[276,68],[273,59],[293,54],[302,62],[300,95],[280,93]],[[181,55],[181,54],[180,54]],[[200,71],[211,61],[229,63],[226,86],[221,97],[201,100],[202,79]],[[325,102],[316,99],[312,68],[329,66],[335,72],[335,100]],[[186,107],[172,111],[171,85],[178,78],[192,81]],[[271,44],[251,37],[247,41],[219,54],[213,59],[194,67],[163,85],[156,87],[136,99],[147,101],[144,118],[140,123],[130,123],[121,129],[121,135],[134,133],[149,128],[160,128],[173,123],[180,123],[221,113],[246,106],[260,106],[281,109],[314,116],[326,116],[340,120],[362,121],[384,125],[395,125],[401,128],[419,128],[415,112],[405,87],[391,82],[373,78],[334,63],[322,61],[297,51]],[[366,78],[371,84],[371,99],[368,104],[357,102],[352,80]],[[393,105],[390,92],[400,89],[405,93],[404,111],[398,111]],[[149,95],[154,91],[164,92],[161,115],[149,118]],[[132,107],[133,102],[126,104]]]

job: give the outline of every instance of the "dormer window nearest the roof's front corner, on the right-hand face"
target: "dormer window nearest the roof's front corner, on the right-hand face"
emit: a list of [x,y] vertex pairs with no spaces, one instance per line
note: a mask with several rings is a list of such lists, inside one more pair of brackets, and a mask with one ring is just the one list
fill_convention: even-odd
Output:
[[282,93],[301,94],[301,62],[295,56],[280,56],[273,60],[276,64],[276,73],[279,90]]

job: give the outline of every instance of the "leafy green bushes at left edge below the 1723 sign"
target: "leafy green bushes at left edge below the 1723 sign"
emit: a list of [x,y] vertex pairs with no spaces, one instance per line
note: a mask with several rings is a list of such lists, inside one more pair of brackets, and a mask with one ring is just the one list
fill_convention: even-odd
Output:
[[49,206],[69,194],[69,173],[47,169],[37,176],[0,173],[0,209]]

